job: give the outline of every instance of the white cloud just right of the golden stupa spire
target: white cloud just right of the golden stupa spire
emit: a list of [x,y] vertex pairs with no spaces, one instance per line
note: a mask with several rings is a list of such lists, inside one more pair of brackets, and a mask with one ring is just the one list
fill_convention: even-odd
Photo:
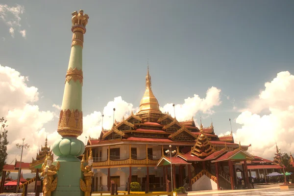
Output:
[[[196,116],[197,112],[212,114],[214,106],[219,106],[221,104],[220,100],[221,89],[216,87],[211,87],[206,92],[205,98],[200,98],[198,95],[194,94],[194,97],[188,97],[184,100],[183,104],[176,104],[175,116],[177,120],[183,121],[191,119],[192,116]],[[162,112],[169,112],[174,116],[172,104],[166,104],[164,107],[160,107]]]

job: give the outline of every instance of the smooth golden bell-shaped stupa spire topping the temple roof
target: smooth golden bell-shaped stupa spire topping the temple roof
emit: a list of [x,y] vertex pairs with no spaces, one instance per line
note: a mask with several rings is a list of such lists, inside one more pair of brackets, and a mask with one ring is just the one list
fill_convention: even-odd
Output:
[[146,90],[140,102],[138,114],[148,112],[161,113],[161,111],[159,110],[158,101],[151,90],[151,76],[149,75],[149,64],[147,65]]

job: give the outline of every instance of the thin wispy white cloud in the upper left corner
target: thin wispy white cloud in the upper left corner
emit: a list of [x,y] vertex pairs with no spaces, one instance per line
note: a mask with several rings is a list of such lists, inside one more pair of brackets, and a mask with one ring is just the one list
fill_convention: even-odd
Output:
[[[16,6],[8,6],[0,4],[0,18],[9,27],[9,33],[14,37],[14,28],[21,27],[21,14],[25,12],[23,5],[16,4]],[[25,30],[20,30],[20,33],[25,37]]]

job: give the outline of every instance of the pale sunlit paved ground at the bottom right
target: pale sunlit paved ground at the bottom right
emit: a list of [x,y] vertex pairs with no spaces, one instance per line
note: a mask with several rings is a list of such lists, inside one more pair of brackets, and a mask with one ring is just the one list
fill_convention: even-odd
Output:
[[281,191],[280,187],[251,190],[203,191],[189,192],[188,196],[294,196],[294,190]]

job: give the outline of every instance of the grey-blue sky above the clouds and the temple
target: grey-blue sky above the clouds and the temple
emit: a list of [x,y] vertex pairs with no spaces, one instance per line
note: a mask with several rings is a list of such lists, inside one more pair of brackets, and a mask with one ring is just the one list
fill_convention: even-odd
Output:
[[[161,106],[183,104],[194,94],[204,98],[211,86],[221,89],[221,105],[203,119],[209,126],[212,118],[220,134],[266,82],[281,71],[294,73],[293,0],[1,1],[16,3],[24,12],[14,38],[7,21],[0,21],[0,64],[28,76],[26,84],[39,89],[42,111],[61,105],[71,13],[80,8],[90,16],[83,50],[84,115],[103,111],[118,96],[138,107],[148,58]],[[18,32],[23,29],[25,37]],[[242,128],[234,120],[232,126]],[[53,132],[57,118],[44,127]]]

